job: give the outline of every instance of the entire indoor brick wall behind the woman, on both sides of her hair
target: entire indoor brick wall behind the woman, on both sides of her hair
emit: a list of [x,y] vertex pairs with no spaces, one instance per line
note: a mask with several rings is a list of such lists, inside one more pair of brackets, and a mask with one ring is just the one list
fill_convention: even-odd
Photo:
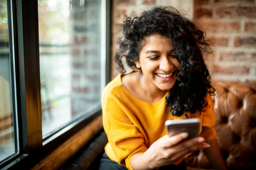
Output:
[[112,0],[112,78],[123,15],[165,4],[194,15],[207,32],[214,53],[206,60],[214,80],[256,81],[256,0]]

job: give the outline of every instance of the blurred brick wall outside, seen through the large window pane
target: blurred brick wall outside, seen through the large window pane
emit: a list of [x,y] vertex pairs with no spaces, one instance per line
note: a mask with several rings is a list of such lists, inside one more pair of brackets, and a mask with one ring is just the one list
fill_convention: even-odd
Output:
[[72,1],[72,116],[100,101],[99,11],[100,0]]

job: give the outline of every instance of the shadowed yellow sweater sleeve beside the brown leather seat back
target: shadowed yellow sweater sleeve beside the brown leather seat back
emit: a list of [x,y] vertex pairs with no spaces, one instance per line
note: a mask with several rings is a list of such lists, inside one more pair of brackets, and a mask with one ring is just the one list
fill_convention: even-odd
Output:
[[217,133],[214,130],[214,125],[215,125],[214,103],[209,93],[207,93],[205,101],[208,103],[210,107],[209,106],[204,107],[205,112],[201,113],[203,115],[202,115],[202,131],[200,133],[200,136],[204,137],[207,143],[210,143],[216,138]]

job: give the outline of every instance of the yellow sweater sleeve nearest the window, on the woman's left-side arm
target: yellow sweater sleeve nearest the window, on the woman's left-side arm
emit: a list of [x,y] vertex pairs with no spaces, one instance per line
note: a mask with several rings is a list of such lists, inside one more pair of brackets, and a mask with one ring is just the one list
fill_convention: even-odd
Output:
[[103,126],[110,146],[120,165],[132,170],[131,159],[136,153],[145,152],[144,136],[131,120],[129,106],[126,106],[115,95],[102,93],[101,97]]

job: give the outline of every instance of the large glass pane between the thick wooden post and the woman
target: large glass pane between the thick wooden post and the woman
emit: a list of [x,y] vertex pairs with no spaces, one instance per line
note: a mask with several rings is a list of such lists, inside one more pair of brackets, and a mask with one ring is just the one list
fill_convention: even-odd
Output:
[[100,0],[39,0],[42,133],[100,103]]

